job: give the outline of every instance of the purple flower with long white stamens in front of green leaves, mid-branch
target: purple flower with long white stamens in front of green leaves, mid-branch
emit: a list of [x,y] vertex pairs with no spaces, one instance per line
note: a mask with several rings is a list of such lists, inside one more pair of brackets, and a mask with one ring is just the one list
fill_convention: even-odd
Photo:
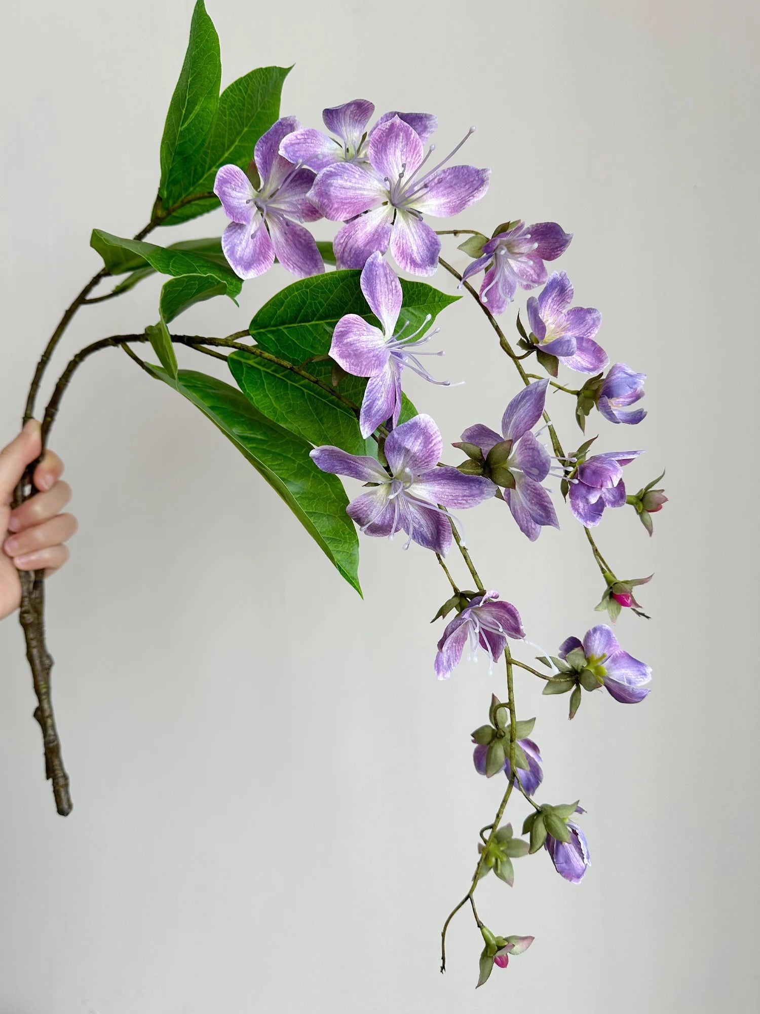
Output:
[[398,425],[401,412],[401,372],[405,366],[432,383],[447,385],[448,380],[436,380],[416,358],[417,355],[443,355],[443,353],[417,352],[437,330],[414,341],[430,320],[426,317],[422,328],[401,337],[408,320],[396,333],[395,327],[401,309],[401,286],[393,270],[376,251],[362,269],[362,292],[381,327],[375,328],[356,313],[348,313],[335,324],[330,345],[330,356],[347,373],[369,377],[362,402],[359,426],[362,436],[374,433],[386,419]]

